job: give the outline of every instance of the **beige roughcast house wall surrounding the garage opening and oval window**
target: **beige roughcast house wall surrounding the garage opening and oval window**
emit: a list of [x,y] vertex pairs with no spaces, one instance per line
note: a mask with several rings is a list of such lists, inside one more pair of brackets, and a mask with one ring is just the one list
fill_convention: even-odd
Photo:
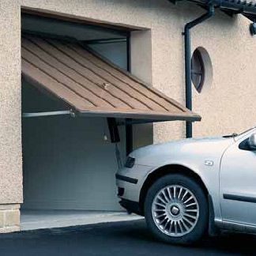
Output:
[[[0,2],[0,203],[22,201],[21,171],[21,6],[58,11],[81,17],[150,28],[151,52],[141,51],[149,69],[136,73],[150,77],[152,85],[184,104],[183,26],[204,10],[167,0],[2,0]],[[202,122],[195,136],[230,133],[254,125],[256,101],[255,39],[244,17],[216,16],[192,32],[192,47],[203,46],[213,62],[213,85],[198,95],[193,91],[194,111]],[[149,37],[149,38],[150,38]],[[140,51],[138,51],[139,53]],[[143,64],[143,63],[142,63]],[[152,70],[152,72],[150,72]],[[149,74],[147,74],[149,72]],[[135,73],[135,72],[134,72]],[[255,92],[256,94],[256,92]],[[154,126],[154,141],[184,136],[183,122]]]

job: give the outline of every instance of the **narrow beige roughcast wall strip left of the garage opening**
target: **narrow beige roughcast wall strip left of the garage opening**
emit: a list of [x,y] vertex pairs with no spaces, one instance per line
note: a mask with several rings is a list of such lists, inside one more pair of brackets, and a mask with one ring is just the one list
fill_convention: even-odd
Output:
[[20,6],[0,2],[0,204],[22,201]]

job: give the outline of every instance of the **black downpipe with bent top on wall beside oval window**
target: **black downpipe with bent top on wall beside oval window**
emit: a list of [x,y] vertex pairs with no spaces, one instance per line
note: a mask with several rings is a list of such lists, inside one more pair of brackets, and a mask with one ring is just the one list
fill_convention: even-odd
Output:
[[[192,89],[191,89],[191,45],[190,28],[213,17],[214,6],[208,6],[208,12],[185,25],[185,77],[186,77],[186,108],[192,110]],[[192,122],[186,121],[186,137],[192,137]]]

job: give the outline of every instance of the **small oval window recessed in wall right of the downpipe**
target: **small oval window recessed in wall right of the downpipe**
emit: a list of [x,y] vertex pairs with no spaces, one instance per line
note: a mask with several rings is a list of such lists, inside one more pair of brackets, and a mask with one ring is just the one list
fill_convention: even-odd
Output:
[[211,82],[212,73],[212,63],[208,52],[205,48],[198,47],[194,50],[191,59],[191,79],[198,92],[201,92],[205,83]]

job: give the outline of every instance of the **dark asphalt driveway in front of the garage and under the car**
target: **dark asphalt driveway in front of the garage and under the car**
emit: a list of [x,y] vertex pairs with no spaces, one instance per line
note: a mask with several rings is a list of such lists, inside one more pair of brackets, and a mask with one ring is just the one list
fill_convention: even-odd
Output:
[[156,241],[144,220],[134,220],[2,234],[0,255],[256,255],[256,236],[222,235],[198,247],[177,247]]

